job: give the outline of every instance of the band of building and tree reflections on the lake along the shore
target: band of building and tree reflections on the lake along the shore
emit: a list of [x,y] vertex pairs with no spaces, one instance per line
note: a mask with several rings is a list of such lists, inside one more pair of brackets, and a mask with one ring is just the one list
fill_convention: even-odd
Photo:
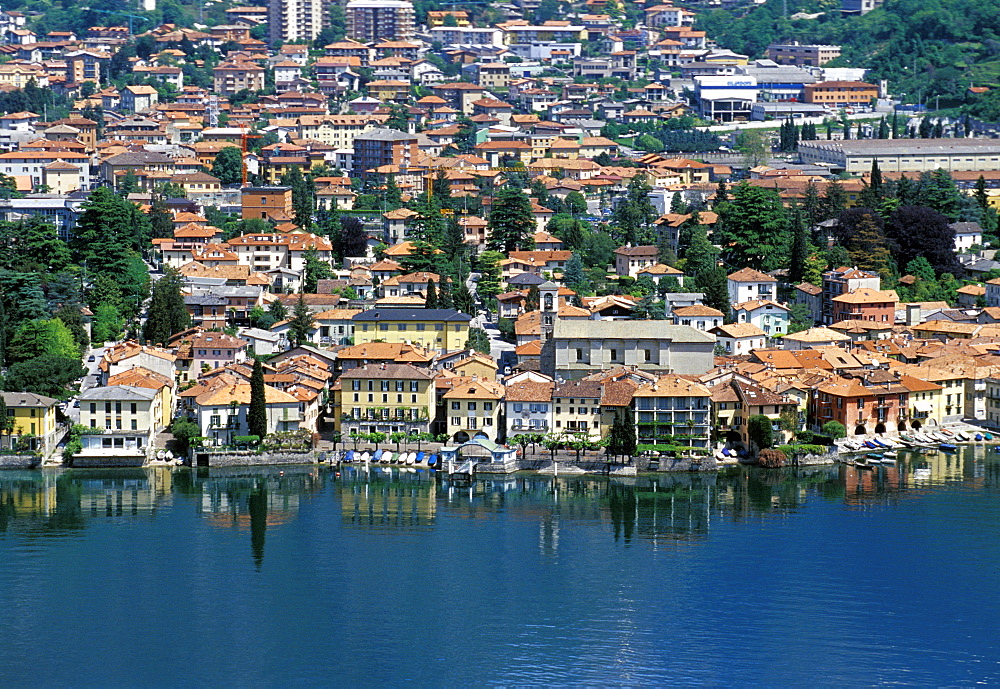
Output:
[[611,480],[515,475],[452,482],[427,471],[359,467],[339,473],[317,467],[8,471],[0,472],[0,536],[66,535],[94,520],[193,509],[212,527],[245,533],[260,569],[269,531],[323,496],[339,509],[337,528],[422,531],[447,528],[444,517],[485,520],[503,514],[536,523],[540,551],[555,554],[574,522],[600,523],[623,544],[697,543],[722,519],[788,516],[817,499],[861,509],[891,506],[946,482],[1000,487],[1000,453],[973,446],[956,454],[900,453],[895,465],[874,468],[738,467]]

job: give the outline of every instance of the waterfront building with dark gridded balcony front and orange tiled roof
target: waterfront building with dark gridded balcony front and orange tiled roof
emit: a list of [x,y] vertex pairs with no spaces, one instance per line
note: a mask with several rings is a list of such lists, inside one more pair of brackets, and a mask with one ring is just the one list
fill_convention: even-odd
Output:
[[711,398],[712,393],[701,383],[676,375],[640,385],[632,395],[639,442],[707,450]]

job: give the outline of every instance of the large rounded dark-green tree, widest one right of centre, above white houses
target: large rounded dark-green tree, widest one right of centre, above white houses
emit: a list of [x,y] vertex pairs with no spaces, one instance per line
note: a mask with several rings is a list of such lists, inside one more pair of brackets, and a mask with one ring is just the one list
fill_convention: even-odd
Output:
[[742,182],[719,211],[715,236],[735,266],[775,270],[788,255],[788,221],[778,192]]

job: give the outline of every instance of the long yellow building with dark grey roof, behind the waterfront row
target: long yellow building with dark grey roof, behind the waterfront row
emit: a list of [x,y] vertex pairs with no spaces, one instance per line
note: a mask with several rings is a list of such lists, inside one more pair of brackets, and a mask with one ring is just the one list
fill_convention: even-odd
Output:
[[394,342],[428,349],[464,349],[470,316],[455,309],[369,309],[351,319],[354,343]]

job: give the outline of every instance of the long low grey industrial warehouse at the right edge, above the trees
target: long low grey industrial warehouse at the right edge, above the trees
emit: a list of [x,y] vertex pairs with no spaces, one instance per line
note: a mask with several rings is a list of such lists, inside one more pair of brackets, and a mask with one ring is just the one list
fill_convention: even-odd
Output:
[[[887,172],[949,172],[996,170],[1000,167],[997,139],[849,139],[800,141],[804,163],[827,163],[833,172],[861,175],[877,160]],[[914,175],[915,177],[915,175]]]

